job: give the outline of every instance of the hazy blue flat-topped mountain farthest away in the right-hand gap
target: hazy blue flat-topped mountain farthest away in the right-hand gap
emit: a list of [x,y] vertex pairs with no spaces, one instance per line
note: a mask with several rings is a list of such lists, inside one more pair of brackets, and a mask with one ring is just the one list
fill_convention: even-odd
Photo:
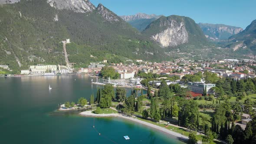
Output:
[[242,28],[236,26],[227,26],[224,24],[198,23],[203,30],[205,36],[213,41],[226,40],[230,36],[243,31]]

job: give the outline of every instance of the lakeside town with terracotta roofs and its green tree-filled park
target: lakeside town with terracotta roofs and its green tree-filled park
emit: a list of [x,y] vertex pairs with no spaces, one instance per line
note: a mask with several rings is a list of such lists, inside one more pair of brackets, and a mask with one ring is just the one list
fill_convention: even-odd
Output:
[[[131,98],[136,99],[136,103],[142,101],[145,104],[137,104],[141,105],[137,110],[136,107],[133,108],[135,105],[133,104],[131,106],[133,110],[132,108],[127,110],[127,106],[122,103],[122,101],[126,103],[125,98],[121,100],[112,96],[113,100],[119,102],[118,107],[123,107],[121,112],[125,115],[136,114],[143,118],[150,116],[154,121],[160,121],[160,124],[164,121],[173,121],[171,124],[184,128],[180,132],[182,134],[187,132],[187,129],[204,132],[206,136],[197,136],[197,138],[201,137],[199,139],[202,141],[213,141],[211,139],[227,141],[226,137],[229,134],[235,139],[233,133],[247,131],[247,124],[255,117],[255,71],[256,62],[253,59],[223,59],[214,62],[177,59],[160,63],[142,60],[108,63],[108,60],[103,60],[90,63],[88,68],[74,68],[74,65],[30,65],[29,69],[21,70],[21,74],[16,76],[82,73],[95,78],[92,79],[92,85],[104,85],[104,88],[110,89],[112,85],[118,87],[117,91],[121,87],[130,87],[133,89],[132,95],[135,95]],[[142,97],[138,98],[140,89]],[[147,90],[145,95],[142,89]],[[116,96],[118,95],[117,93]],[[97,95],[96,99],[98,97]],[[184,101],[180,98],[196,101],[196,108],[192,107],[193,103],[186,104],[196,109],[192,114],[194,122],[193,118],[190,118],[191,122],[181,119],[181,116],[187,117],[187,114],[181,113],[181,109],[187,107],[181,106]],[[91,104],[96,103],[103,109],[110,107],[110,105],[102,105],[102,101],[95,101],[92,97],[90,101]],[[156,114],[151,115],[154,103],[159,106],[155,106]],[[174,109],[177,105],[179,105],[179,111]],[[147,108],[150,108],[150,112]],[[190,111],[185,109],[184,111]],[[103,110],[97,109],[97,111]],[[249,127],[251,128],[250,123]]]

